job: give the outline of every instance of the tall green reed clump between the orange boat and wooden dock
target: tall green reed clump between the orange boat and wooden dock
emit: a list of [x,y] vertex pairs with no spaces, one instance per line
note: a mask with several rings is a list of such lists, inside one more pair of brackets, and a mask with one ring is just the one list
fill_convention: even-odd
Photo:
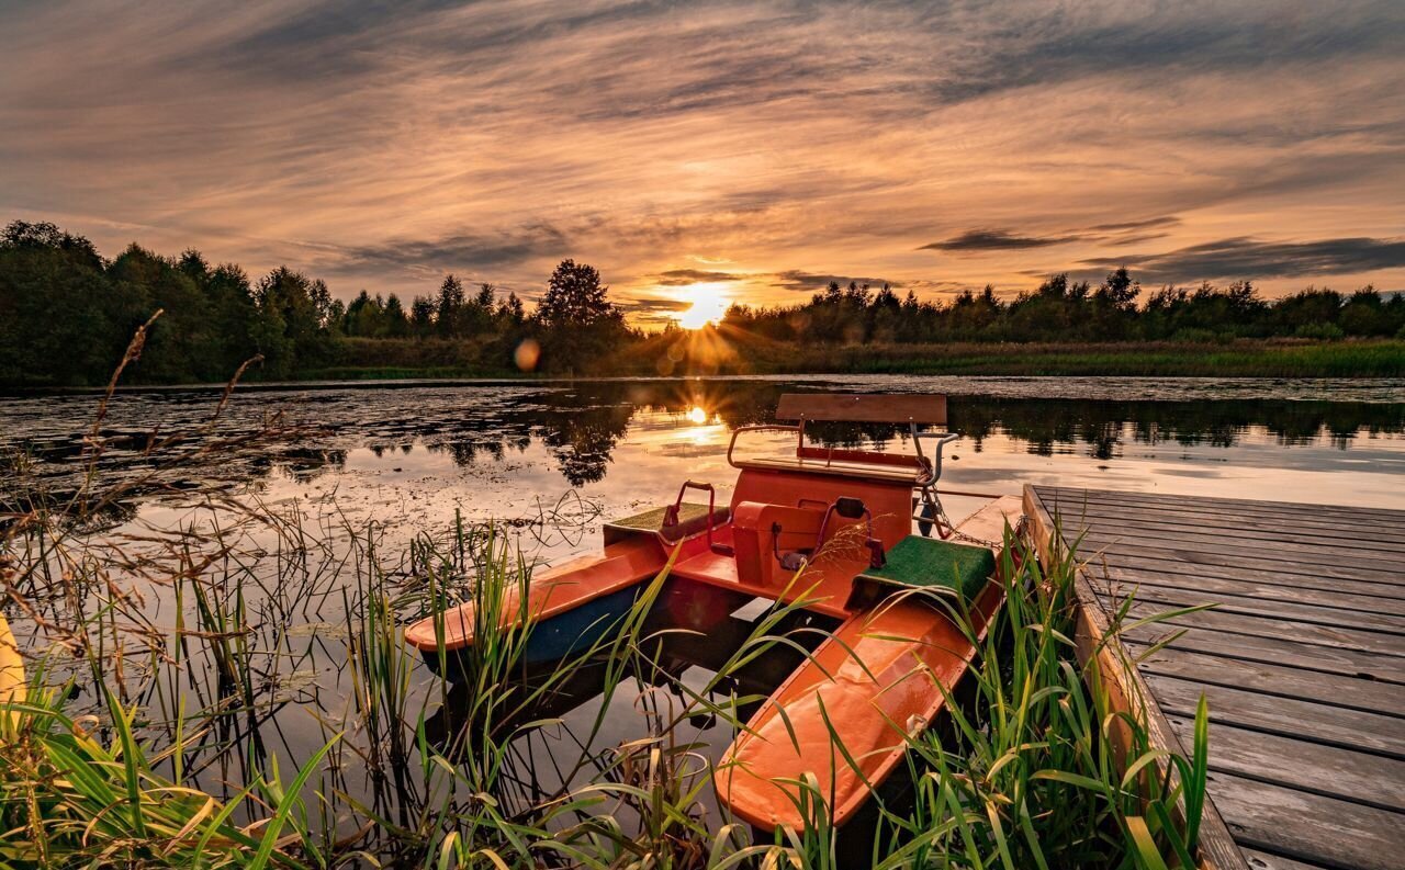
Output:
[[[1006,530],[1006,601],[941,727],[910,741],[913,805],[885,814],[898,843],[882,867],[1193,867],[1204,804],[1207,710],[1191,759],[1151,747],[1141,717],[1113,707],[1097,657],[1075,647],[1076,554],[1041,566]],[[1107,637],[1124,629],[1128,603]],[[1190,609],[1161,613],[1162,622]],[[1120,740],[1125,735],[1130,749]],[[1172,821],[1183,801],[1186,825]]]

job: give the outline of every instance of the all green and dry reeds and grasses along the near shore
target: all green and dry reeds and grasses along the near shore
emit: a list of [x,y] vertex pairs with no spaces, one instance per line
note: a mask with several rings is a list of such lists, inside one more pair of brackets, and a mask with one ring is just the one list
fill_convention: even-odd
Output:
[[[11,560],[52,553],[18,543],[13,535],[7,540]],[[701,867],[763,859],[837,867],[851,866],[854,843],[871,843],[871,857],[884,867],[1189,866],[1204,740],[1191,759],[1168,761],[1127,720],[1134,749],[1118,756],[1109,732],[1116,717],[1099,675],[1078,664],[1072,641],[1072,556],[1041,568],[1019,542],[1010,544],[1024,558],[1016,570],[1006,556],[1007,605],[982,641],[968,685],[953,699],[950,718],[912,738],[912,789],[891,800],[880,794],[873,831],[840,832],[825,824],[823,787],[813,783],[815,824],[774,835],[711,817],[712,759],[687,724],[710,717],[739,727],[746,718],[739,710],[762,695],[740,692],[738,675],[783,648],[813,648],[823,631],[787,630],[795,605],[757,620],[701,683],[681,681],[660,664],[663,644],[677,630],[651,620],[667,582],[660,577],[618,631],[572,661],[528,675],[521,650],[531,629],[493,630],[514,622],[504,609],[521,601],[513,589],[531,573],[510,536],[459,525],[447,546],[422,536],[407,554],[386,558],[371,529],[340,544],[358,554],[343,554],[351,578],[336,592],[350,678],[343,718],[319,699],[316,745],[289,758],[267,745],[263,725],[287,718],[294,703],[280,696],[275,662],[308,652],[289,643],[289,631],[273,637],[251,624],[253,613],[268,613],[271,602],[256,566],[212,580],[194,568],[208,563],[180,550],[174,588],[187,589],[178,601],[192,619],[164,630],[148,622],[155,664],[138,671],[111,667],[135,661],[132,629],[121,626],[132,615],[125,609],[131,599],[111,563],[93,558],[84,563],[93,574],[67,574],[60,582],[74,587],[66,592],[74,602],[91,601],[94,589],[111,591],[98,594],[101,605],[80,608],[83,620],[67,626],[67,637],[86,641],[48,654],[52,664],[67,655],[70,675],[58,679],[41,667],[30,700],[8,706],[0,815],[10,834],[3,848],[11,863],[53,866],[93,859],[332,866],[374,857],[445,867]],[[303,537],[298,546],[303,549],[270,556],[309,571],[298,584],[284,577],[284,588],[323,589],[322,598],[333,601],[312,568],[315,547],[330,544]],[[233,547],[226,540],[219,550],[229,558]],[[155,563],[143,564],[152,575]],[[7,568],[7,580],[32,580],[35,567]],[[37,592],[58,589],[11,582],[10,591],[11,599],[35,601]],[[426,678],[399,627],[462,594],[485,603],[478,636],[489,640],[462,662],[468,682],[451,690]],[[51,610],[46,619],[53,617]],[[327,643],[325,634],[309,637]],[[264,645],[270,641],[281,651]],[[204,679],[209,696],[201,710],[177,702],[171,714],[166,693],[173,689],[150,690],[171,668],[181,668],[183,679]],[[584,692],[568,685],[582,674],[592,675]],[[601,751],[596,737],[608,728],[615,716],[610,700],[621,693],[645,711],[643,727]],[[563,697],[583,700],[586,710],[584,723],[572,725],[579,747],[566,754],[572,769],[524,789],[523,776],[540,772],[523,769],[523,742],[566,727]],[[214,769],[235,784],[219,797],[205,791],[205,773]],[[364,770],[367,782],[353,770]],[[1173,821],[1179,800],[1186,825]]]

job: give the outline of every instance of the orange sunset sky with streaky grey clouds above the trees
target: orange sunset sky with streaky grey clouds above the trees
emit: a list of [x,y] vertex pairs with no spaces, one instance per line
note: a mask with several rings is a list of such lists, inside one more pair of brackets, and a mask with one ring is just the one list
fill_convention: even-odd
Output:
[[350,297],[563,257],[638,323],[836,276],[1405,289],[1405,3],[0,0],[0,222]]

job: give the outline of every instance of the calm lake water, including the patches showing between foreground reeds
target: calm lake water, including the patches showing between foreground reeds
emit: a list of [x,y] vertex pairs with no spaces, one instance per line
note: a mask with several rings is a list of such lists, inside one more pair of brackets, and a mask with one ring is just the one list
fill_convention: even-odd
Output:
[[[726,463],[732,429],[771,421],[777,399],[797,390],[946,393],[950,429],[961,435],[947,448],[941,484],[950,490],[1017,494],[1033,483],[1405,508],[1399,382],[825,376],[296,384],[240,389],[214,422],[219,392],[119,393],[97,427],[105,446],[93,467],[104,486],[129,488],[93,533],[128,536],[132,546],[164,547],[169,556],[169,542],[145,539],[190,523],[205,529],[200,523],[229,516],[235,504],[259,502],[333,542],[306,588],[280,588],[277,573],[260,568],[267,595],[249,602],[249,637],[268,657],[257,686],[263,713],[212,741],[207,772],[197,775],[202,787],[228,793],[240,772],[229,758],[214,761],[221,751],[256,740],[268,752],[302,759],[322,744],[327,721],[347,716],[351,679],[340,588],[350,570],[344,558],[337,561],[334,542],[374,525],[382,549],[392,550],[422,532],[443,535],[461,519],[506,529],[537,561],[592,551],[603,519],[672,501],[684,480],[717,484],[725,501],[735,477]],[[0,397],[0,449],[25,456],[22,470],[0,466],[0,504],[13,507],[21,487],[55,498],[79,487],[97,404],[91,394]],[[884,427],[818,435],[910,449],[901,432]],[[787,443],[756,438],[746,449],[781,450]],[[212,501],[222,497],[229,502]],[[979,504],[974,497],[947,500],[957,519]],[[254,530],[239,546],[259,563],[280,544]],[[125,571],[121,580],[140,599],[133,606],[148,634],[174,631],[178,599],[169,587],[149,582],[138,568]],[[183,608],[188,612],[190,602]],[[28,624],[13,605],[6,612],[31,655],[53,650],[55,637]],[[202,672],[207,660],[173,668],[142,665],[142,654],[131,658],[119,679],[156,711],[156,724],[170,727],[219,696],[218,681]],[[784,671],[754,675],[753,689],[764,690]],[[705,678],[702,665],[676,675],[693,688]],[[438,707],[427,669],[416,669],[413,685],[430,710]],[[582,703],[559,711],[563,725],[524,738],[517,752],[523,765],[549,758],[559,775],[572,765],[556,755],[618,747],[658,716],[651,704],[679,699],[677,692],[641,692],[632,683],[599,697],[589,679],[576,693]],[[601,709],[604,727],[582,741]],[[694,718],[687,741],[715,756],[732,728]],[[577,770],[577,779],[593,769],[599,766]],[[333,779],[350,796],[375,791],[344,769]],[[532,769],[521,779],[540,784],[542,773]],[[700,805],[715,812],[707,796]],[[339,825],[355,826],[353,811],[339,812],[346,815]]]

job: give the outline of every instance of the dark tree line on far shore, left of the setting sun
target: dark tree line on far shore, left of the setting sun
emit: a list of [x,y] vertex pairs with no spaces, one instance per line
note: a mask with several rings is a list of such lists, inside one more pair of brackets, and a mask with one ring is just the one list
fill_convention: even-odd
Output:
[[108,261],[81,236],[17,220],[0,234],[0,384],[104,383],[157,310],[133,382],[221,382],[253,358],[247,377],[281,380],[389,340],[469,345],[492,372],[586,370],[639,337],[607,292],[593,267],[565,260],[531,313],[516,293],[490,283],[468,293],[454,275],[409,309],[395,293],[364,290],[343,303],[287,267],[250,279],[195,250],[162,257],[136,244]]

